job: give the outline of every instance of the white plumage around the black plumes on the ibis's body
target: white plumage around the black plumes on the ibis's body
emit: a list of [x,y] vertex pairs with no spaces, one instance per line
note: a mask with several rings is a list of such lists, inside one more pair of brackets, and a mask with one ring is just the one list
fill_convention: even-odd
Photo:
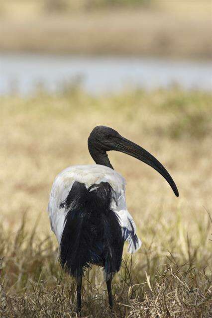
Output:
[[136,252],[141,246],[141,240],[136,236],[136,225],[130,213],[127,211],[125,199],[125,179],[118,172],[101,164],[74,165],[61,171],[54,180],[48,213],[51,229],[55,233],[60,244],[61,236],[65,226],[66,210],[59,208],[68,196],[75,181],[84,183],[88,188],[92,184],[108,182],[115,193],[111,202],[111,210],[118,216],[122,229],[122,236],[127,240],[128,252]]

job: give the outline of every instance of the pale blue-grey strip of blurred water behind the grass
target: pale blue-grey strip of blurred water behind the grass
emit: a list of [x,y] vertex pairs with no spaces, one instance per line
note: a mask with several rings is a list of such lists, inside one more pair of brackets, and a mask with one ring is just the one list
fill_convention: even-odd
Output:
[[42,54],[0,54],[0,62],[0,94],[11,89],[30,94],[38,82],[48,91],[56,91],[63,82],[77,77],[94,94],[118,91],[125,86],[154,89],[173,83],[185,89],[212,89],[212,62]]

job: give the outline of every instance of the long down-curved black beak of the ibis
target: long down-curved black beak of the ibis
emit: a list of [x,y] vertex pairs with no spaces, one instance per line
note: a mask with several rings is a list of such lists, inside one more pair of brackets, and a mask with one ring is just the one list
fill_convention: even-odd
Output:
[[166,181],[170,184],[172,190],[174,191],[174,194],[177,197],[179,196],[177,186],[174,183],[174,180],[172,179],[169,172],[155,157],[148,153],[148,151],[123,137],[121,137],[117,142],[115,150],[127,154],[131,157],[134,157],[150,165],[166,179]]

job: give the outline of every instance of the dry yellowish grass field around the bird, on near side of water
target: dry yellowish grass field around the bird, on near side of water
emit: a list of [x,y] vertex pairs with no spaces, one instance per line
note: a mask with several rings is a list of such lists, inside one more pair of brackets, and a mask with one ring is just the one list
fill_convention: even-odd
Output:
[[82,316],[211,317],[211,101],[210,93],[178,87],[92,97],[73,86],[1,98],[1,317],[76,317],[74,283],[57,262],[46,207],[58,172],[93,162],[87,138],[99,124],[150,151],[180,196],[149,166],[109,153],[126,178],[143,244],[132,258],[124,252],[112,314],[101,270],[86,274]]

